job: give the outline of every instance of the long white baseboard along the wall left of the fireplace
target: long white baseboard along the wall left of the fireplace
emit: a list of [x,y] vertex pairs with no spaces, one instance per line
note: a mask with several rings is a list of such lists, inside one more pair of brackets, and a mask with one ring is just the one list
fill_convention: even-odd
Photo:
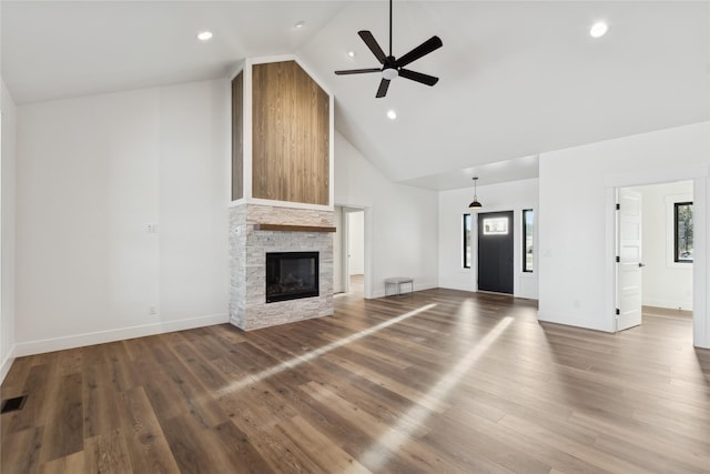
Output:
[[229,322],[230,315],[227,313],[221,313],[140,326],[77,334],[64,337],[28,341],[16,345],[16,356],[21,357],[24,355],[42,354],[44,352],[63,351],[65,349],[83,347],[85,345],[103,344],[106,342],[123,341],[126,339],[143,337],[146,335],[163,334],[173,331],[184,331]]

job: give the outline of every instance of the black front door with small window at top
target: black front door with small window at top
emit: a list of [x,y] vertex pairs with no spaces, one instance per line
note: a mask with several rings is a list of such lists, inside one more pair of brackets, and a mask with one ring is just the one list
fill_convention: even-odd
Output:
[[478,290],[513,294],[513,211],[478,214]]

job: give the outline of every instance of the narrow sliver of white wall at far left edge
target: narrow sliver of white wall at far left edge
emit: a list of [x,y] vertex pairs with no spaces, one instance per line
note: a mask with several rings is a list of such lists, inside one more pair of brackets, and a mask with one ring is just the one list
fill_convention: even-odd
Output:
[[0,382],[4,380],[14,359],[14,231],[16,231],[16,107],[0,78]]

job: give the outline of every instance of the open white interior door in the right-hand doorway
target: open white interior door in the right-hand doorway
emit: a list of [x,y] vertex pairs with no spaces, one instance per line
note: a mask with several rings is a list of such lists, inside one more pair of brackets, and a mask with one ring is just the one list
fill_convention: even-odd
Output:
[[617,212],[617,331],[641,324],[641,194],[619,189]]

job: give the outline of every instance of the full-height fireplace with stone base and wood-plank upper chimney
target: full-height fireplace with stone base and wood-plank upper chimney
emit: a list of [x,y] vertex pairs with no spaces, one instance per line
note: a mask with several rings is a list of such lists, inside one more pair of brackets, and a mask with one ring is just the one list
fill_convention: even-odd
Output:
[[230,321],[245,331],[333,314],[333,105],[295,57],[232,78]]

